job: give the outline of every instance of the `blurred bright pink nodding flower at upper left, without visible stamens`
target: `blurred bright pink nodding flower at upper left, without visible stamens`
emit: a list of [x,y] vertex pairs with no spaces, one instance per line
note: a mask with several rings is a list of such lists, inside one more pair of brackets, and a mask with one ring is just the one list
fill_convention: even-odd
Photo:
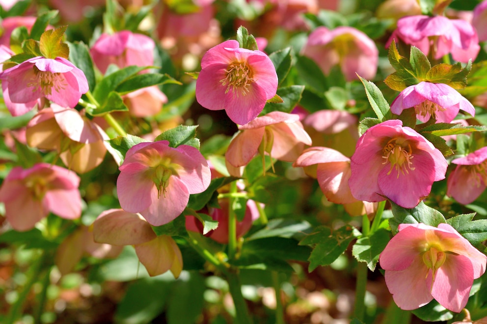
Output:
[[97,68],[105,73],[110,64],[119,68],[153,65],[155,47],[149,36],[122,30],[111,35],[102,34],[90,53]]

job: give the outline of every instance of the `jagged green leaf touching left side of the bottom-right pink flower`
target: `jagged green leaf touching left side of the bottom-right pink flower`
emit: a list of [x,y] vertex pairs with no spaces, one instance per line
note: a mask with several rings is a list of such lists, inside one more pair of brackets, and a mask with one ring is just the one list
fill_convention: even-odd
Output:
[[363,236],[355,242],[352,255],[359,262],[366,262],[370,271],[376,269],[379,254],[385,249],[390,240],[389,231],[379,228],[371,236]]

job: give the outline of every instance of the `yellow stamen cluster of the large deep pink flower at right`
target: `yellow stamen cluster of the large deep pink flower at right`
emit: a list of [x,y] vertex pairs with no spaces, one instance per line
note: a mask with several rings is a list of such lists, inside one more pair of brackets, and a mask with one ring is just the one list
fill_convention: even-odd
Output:
[[410,161],[414,156],[412,155],[411,145],[402,138],[393,138],[387,142],[382,149],[382,158],[385,159],[382,164],[391,164],[391,168],[387,175],[391,174],[392,169],[397,171],[397,177],[399,174],[409,174],[408,170],[413,171],[415,168],[411,167]]

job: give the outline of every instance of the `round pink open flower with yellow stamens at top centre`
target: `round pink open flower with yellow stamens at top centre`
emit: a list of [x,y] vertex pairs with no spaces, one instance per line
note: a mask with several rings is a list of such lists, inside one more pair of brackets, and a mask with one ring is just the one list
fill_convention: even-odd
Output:
[[225,109],[240,125],[260,114],[277,91],[277,74],[269,56],[240,49],[235,40],[206,52],[196,80],[196,100],[210,110]]

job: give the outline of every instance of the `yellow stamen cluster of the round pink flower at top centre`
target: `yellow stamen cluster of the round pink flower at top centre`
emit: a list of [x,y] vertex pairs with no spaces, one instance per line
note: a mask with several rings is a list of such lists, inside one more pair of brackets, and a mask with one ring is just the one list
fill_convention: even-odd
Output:
[[254,79],[254,72],[246,62],[232,62],[225,70],[226,76],[221,79],[221,85],[226,86],[225,93],[232,89],[234,94],[245,96],[249,93],[248,87]]

